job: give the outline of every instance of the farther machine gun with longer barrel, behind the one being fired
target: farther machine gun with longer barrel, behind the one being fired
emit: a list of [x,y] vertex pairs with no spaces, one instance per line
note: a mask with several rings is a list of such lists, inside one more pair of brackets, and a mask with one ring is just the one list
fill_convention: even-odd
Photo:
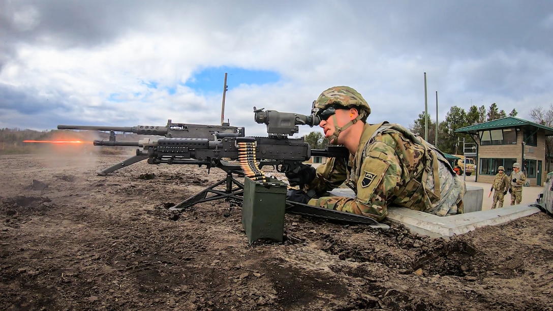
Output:
[[[244,136],[243,127],[229,126],[228,123],[221,126],[218,125],[197,125],[186,123],[173,123],[171,120],[167,121],[166,126],[150,126],[150,125],[138,125],[138,126],[81,126],[81,125],[58,125],[58,129],[80,129],[88,131],[109,131],[109,141],[105,142],[102,146],[138,146],[137,142],[125,142],[116,141],[116,132],[121,133],[135,133],[144,135],[158,135],[165,136],[166,138],[200,138],[207,139],[208,141],[215,140],[215,133],[231,133],[238,136]],[[131,164],[140,162],[147,159],[147,155],[137,154],[133,157],[123,160],[111,167],[98,170],[96,173],[101,176],[113,173],[118,169],[128,167]]]

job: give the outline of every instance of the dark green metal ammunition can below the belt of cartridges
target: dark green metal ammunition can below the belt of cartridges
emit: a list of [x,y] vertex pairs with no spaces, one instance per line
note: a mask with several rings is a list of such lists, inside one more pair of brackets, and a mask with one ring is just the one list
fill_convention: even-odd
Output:
[[287,189],[285,183],[273,178],[264,182],[244,178],[242,226],[249,243],[259,239],[282,242]]

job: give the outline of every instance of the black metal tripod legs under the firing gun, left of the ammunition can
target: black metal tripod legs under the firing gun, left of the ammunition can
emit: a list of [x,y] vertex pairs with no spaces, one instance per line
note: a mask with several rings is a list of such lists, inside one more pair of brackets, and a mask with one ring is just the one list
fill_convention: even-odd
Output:
[[[217,186],[225,184],[225,191],[215,189]],[[208,196],[208,194],[212,194]],[[227,172],[227,177],[218,181],[216,184],[209,186],[208,188],[200,191],[199,193],[192,195],[190,198],[182,201],[181,203],[169,208],[169,210],[178,210],[182,211],[186,208],[189,208],[192,205],[203,203],[212,200],[218,199],[234,199],[234,200],[243,200],[242,196],[244,195],[244,185],[241,182],[238,182],[234,177],[232,177],[232,172]]]

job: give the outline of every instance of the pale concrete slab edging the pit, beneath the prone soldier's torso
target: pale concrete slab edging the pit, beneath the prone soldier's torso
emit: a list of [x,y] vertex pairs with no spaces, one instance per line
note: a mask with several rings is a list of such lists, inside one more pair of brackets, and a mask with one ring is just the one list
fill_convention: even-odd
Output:
[[520,217],[539,212],[528,205],[475,211],[466,214],[440,217],[406,208],[388,208],[388,219],[407,227],[411,233],[449,240],[454,235],[466,234],[476,228],[504,224]]

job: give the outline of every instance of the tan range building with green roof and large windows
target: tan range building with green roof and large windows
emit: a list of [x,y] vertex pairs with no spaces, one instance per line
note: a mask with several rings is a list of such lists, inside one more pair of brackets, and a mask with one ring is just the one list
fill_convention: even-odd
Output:
[[505,117],[462,127],[455,132],[469,134],[477,144],[477,182],[492,183],[500,165],[510,174],[513,164],[518,162],[530,186],[543,185],[547,174],[545,137],[553,136],[553,128]]

